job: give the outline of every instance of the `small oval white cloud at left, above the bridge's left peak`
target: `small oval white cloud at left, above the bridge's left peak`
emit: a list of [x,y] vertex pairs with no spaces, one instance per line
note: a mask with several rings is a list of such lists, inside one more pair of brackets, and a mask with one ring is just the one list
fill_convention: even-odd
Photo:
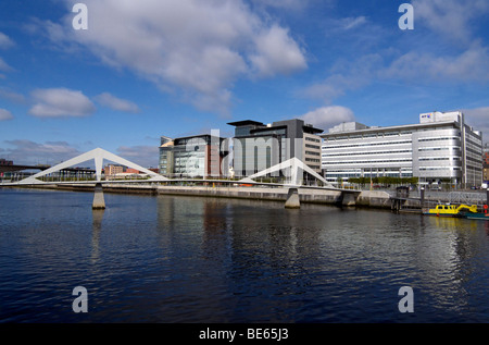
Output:
[[37,101],[29,113],[39,118],[87,116],[95,112],[93,103],[82,91],[48,88],[33,91]]

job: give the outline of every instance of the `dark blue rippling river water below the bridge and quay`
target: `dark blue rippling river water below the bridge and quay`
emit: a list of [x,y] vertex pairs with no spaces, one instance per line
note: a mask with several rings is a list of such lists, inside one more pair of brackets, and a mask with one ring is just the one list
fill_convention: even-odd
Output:
[[[489,321],[489,222],[0,189],[0,322]],[[87,291],[75,312],[73,291]],[[401,312],[399,291],[413,292]]]

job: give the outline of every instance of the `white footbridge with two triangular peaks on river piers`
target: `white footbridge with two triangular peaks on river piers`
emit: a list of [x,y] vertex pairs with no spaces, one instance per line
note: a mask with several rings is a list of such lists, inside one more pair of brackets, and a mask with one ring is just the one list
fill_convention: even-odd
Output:
[[[60,172],[62,170],[68,169],[71,167],[87,162],[87,161],[95,161],[95,173],[96,173],[96,180],[95,181],[43,181],[42,177],[54,174],[57,172]],[[121,165],[125,165],[127,168],[131,168],[135,170],[138,170],[139,172],[142,172],[147,175],[147,178],[141,180],[102,180],[102,167],[103,161],[108,160]],[[288,171],[289,176],[286,180],[285,183],[267,183],[267,182],[258,182],[253,178],[259,178],[262,176],[266,176],[272,173],[276,173],[278,171]],[[306,172],[311,174],[316,182],[319,182],[322,186],[306,186],[302,185],[302,172]],[[9,182],[9,183],[0,183],[0,187],[14,187],[14,186],[41,186],[41,185],[96,185],[95,189],[95,199],[93,199],[93,208],[104,208],[103,202],[103,193],[102,193],[102,185],[110,185],[110,184],[126,184],[126,183],[137,183],[137,184],[174,184],[174,183],[195,183],[195,184],[238,184],[238,185],[250,185],[250,186],[268,186],[268,187],[288,187],[289,188],[289,196],[287,198],[286,207],[296,208],[299,207],[299,196],[298,196],[298,188],[315,188],[315,189],[329,189],[329,190],[338,190],[342,193],[342,199],[343,200],[351,200],[354,199],[361,190],[354,190],[354,189],[340,189],[335,186],[333,186],[330,183],[328,183],[323,176],[317,174],[314,170],[309,168],[306,164],[304,164],[302,161],[300,161],[297,158],[291,158],[287,161],[284,161],[279,164],[276,164],[274,167],[271,167],[268,169],[265,169],[259,173],[252,174],[248,177],[241,178],[239,181],[236,180],[212,180],[212,178],[167,178],[165,176],[162,176],[151,170],[148,170],[146,168],[142,168],[134,162],[130,162],[122,157],[118,157],[114,153],[111,153],[104,149],[96,148],[91,151],[88,151],[86,153],[79,155],[75,158],[72,158],[65,162],[62,162],[60,164],[57,164],[54,167],[51,167],[49,169],[46,169],[43,171],[40,171],[39,173],[36,173],[32,176],[28,176],[24,180],[17,181],[17,182]],[[344,204],[344,202],[343,202]]]

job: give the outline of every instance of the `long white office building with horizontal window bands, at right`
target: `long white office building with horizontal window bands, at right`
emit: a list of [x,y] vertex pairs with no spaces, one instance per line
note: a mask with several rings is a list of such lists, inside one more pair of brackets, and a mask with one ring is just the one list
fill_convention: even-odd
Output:
[[419,184],[477,186],[482,181],[482,137],[462,112],[419,114],[418,124],[369,127],[342,123],[322,135],[328,182],[350,177],[418,177]]

